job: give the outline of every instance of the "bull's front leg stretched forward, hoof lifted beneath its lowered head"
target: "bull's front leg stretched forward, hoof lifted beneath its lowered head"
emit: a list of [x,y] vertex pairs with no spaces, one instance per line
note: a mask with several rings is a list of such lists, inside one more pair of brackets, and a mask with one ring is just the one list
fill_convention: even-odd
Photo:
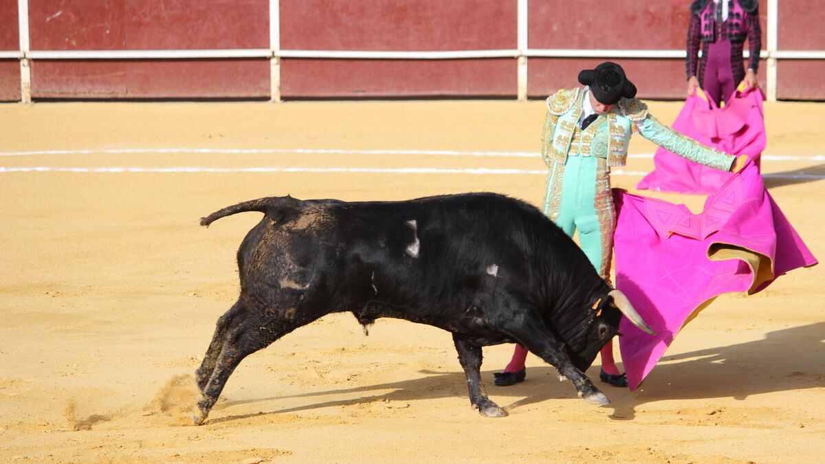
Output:
[[[512,322],[515,320],[520,322],[515,324]],[[610,400],[607,399],[605,394],[573,365],[564,350],[563,341],[547,329],[544,321],[538,316],[531,315],[528,311],[523,317],[513,317],[503,321],[501,328],[507,334],[512,335],[513,339],[516,339],[522,346],[530,350],[530,353],[544,359],[544,362],[554,366],[561,375],[573,382],[578,395],[584,398],[585,401],[591,405],[610,405]]]

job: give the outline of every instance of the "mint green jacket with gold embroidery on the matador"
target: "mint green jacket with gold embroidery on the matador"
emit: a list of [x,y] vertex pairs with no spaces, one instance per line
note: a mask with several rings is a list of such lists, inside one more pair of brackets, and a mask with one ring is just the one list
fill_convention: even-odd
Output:
[[622,98],[610,111],[596,118],[577,140],[571,151],[571,141],[579,116],[582,116],[581,88],[562,89],[547,98],[541,154],[548,166],[565,163],[568,154],[596,156],[607,160],[608,166],[624,166],[627,145],[634,132],[675,154],[705,164],[711,168],[730,170],[735,157],[681,135],[663,125],[648,113],[648,107],[637,98]]

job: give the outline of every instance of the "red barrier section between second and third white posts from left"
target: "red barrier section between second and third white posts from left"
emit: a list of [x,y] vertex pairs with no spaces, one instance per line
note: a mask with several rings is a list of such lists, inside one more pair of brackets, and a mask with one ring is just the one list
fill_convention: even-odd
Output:
[[[448,5],[448,7],[446,7]],[[516,0],[282,0],[285,50],[516,48]],[[283,59],[284,97],[515,95],[515,59]]]

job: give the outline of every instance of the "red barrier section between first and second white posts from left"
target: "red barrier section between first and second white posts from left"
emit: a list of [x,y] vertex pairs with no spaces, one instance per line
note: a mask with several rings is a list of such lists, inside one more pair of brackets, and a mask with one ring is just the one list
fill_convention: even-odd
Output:
[[[269,48],[269,2],[31,0],[31,50]],[[267,59],[55,59],[35,98],[269,97]]]

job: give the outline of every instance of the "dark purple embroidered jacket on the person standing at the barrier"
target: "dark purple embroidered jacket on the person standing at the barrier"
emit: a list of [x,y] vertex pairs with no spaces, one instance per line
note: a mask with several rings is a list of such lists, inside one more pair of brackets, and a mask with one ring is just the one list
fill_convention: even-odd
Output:
[[[756,72],[759,68],[759,50],[762,46],[762,31],[759,25],[757,0],[720,0],[728,2],[728,20],[722,24],[715,21],[716,3],[711,0],[696,0],[691,5],[691,23],[687,28],[687,78],[701,74],[697,68],[704,68],[708,56],[708,44],[715,40],[730,40],[730,60],[734,82],[745,77],[742,66],[742,46],[747,38],[751,56],[747,67]],[[700,63],[699,49],[702,46]]]

